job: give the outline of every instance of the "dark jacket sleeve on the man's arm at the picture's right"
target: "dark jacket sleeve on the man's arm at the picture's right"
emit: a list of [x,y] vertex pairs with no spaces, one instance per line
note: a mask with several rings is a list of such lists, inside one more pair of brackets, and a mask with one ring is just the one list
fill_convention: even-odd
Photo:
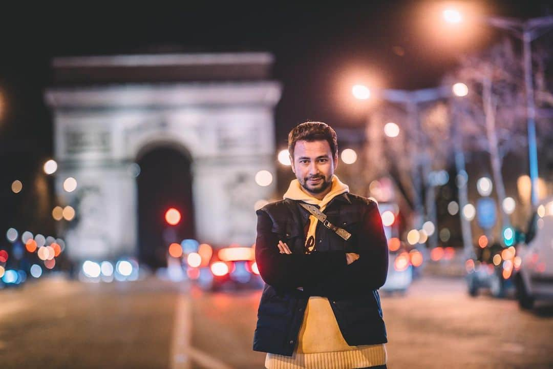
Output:
[[364,212],[357,246],[359,259],[314,284],[305,285],[305,291],[317,296],[340,297],[366,294],[384,285],[388,274],[388,242],[375,202],[369,203]]

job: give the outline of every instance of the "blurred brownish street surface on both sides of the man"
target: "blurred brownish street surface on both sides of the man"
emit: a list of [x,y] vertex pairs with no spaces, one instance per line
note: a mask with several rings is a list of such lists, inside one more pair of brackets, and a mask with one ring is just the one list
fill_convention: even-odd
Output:
[[[263,368],[264,354],[251,350],[259,296],[154,277],[0,290],[0,367]],[[382,302],[389,368],[553,367],[551,304],[521,311],[436,277]]]

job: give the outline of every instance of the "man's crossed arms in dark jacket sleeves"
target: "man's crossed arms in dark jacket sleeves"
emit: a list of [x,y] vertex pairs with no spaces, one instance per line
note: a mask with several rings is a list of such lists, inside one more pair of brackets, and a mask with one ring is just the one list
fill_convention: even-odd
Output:
[[388,245],[375,203],[368,204],[363,214],[354,245],[359,258],[349,265],[345,251],[287,253],[282,244],[279,246],[278,235],[271,231],[269,215],[262,210],[257,214],[255,259],[261,277],[274,288],[301,286],[312,295],[331,297],[366,293],[384,284]]

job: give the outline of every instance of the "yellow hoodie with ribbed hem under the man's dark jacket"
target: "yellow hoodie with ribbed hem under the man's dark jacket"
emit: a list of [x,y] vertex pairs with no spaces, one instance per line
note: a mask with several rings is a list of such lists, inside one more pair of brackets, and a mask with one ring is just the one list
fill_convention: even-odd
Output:
[[[330,200],[347,192],[348,186],[333,175],[331,190],[322,200],[307,194],[297,179],[291,181],[284,198],[318,205],[323,211]],[[306,250],[312,252],[315,249],[318,220],[313,215],[309,219]],[[309,241],[310,237],[312,242]],[[384,365],[386,362],[387,352],[384,344],[349,346],[342,336],[328,299],[319,296],[312,296],[307,302],[298,335],[298,346],[293,356],[267,354],[265,357],[265,367],[268,369],[350,369]]]

